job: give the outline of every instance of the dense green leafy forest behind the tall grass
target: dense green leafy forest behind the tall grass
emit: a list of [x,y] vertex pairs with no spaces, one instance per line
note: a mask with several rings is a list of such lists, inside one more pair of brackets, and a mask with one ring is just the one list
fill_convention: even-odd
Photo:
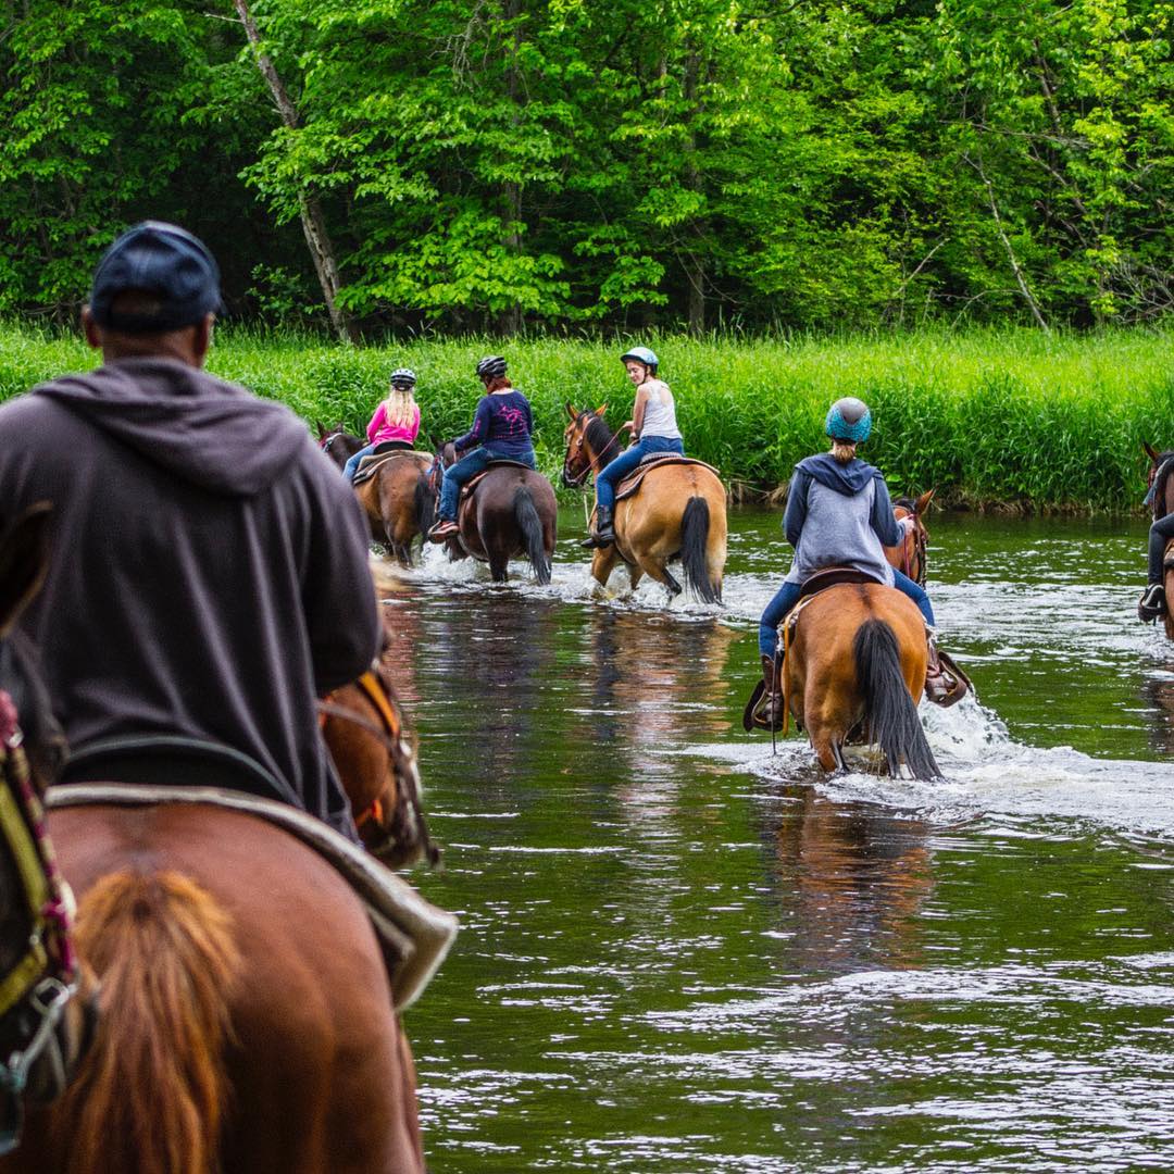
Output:
[[0,315],[185,224],[339,335],[1134,324],[1174,4],[7,0]]

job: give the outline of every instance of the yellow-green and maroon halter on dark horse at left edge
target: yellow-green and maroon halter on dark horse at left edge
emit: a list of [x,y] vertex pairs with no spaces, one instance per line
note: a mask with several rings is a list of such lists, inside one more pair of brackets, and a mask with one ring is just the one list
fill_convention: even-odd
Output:
[[23,1093],[39,1059],[53,1065],[65,1089],[68,1064],[58,1026],[77,993],[77,957],[70,935],[72,895],[58,871],[41,801],[33,788],[25,740],[12,697],[0,690],[0,835],[15,863],[32,930],[23,954],[0,976],[0,1020],[16,1025],[16,1046],[0,1057],[0,1154],[20,1140]]

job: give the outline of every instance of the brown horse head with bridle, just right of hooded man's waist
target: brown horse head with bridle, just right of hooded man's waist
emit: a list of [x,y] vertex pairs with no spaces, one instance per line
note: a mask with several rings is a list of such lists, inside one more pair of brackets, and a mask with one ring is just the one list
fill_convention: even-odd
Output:
[[416,745],[386,669],[377,663],[318,710],[363,844],[391,868],[420,857],[434,865],[440,852],[420,803]]

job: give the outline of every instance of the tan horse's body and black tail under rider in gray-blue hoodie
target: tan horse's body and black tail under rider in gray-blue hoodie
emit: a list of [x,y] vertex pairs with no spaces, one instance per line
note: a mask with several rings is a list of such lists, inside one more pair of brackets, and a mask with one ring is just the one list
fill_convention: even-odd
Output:
[[849,742],[877,744],[891,775],[940,775],[917,716],[925,687],[925,620],[875,582],[838,583],[801,601],[784,634],[784,715],[805,729],[825,770]]

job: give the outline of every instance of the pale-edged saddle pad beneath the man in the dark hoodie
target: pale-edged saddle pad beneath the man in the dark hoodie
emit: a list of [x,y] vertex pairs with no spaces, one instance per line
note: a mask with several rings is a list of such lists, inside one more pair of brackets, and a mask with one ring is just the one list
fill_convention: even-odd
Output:
[[312,848],[351,886],[366,906],[387,964],[397,1011],[423,994],[457,936],[457,918],[425,900],[406,880],[312,815],[238,791],[216,787],[140,787],[128,783],[70,783],[50,787],[46,808],[113,804],[149,807],[203,803],[257,816]]

